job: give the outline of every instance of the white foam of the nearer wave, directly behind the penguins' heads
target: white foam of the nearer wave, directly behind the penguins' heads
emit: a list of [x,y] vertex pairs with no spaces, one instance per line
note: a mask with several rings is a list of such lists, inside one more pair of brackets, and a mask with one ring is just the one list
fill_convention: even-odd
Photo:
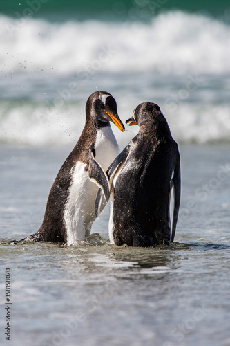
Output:
[[[131,102],[132,103],[132,102]],[[84,104],[72,104],[62,109],[50,111],[47,118],[42,114],[48,109],[42,105],[12,107],[7,102],[8,116],[0,116],[1,143],[26,145],[74,145],[84,127]],[[4,108],[1,105],[1,108]],[[171,134],[179,143],[218,143],[230,142],[230,109],[218,105],[180,104],[176,111],[161,107],[171,128]],[[4,109],[3,109],[4,111]],[[131,116],[131,105],[119,102],[119,116],[123,122]],[[38,115],[38,116],[37,116]],[[41,116],[41,118],[39,118]],[[117,142],[123,148],[135,134],[138,127],[128,127],[123,134],[111,125]]]

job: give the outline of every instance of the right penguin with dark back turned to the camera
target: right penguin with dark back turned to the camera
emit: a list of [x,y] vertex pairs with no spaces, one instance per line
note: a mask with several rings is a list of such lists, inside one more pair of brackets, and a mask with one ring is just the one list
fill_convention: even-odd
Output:
[[[111,244],[154,246],[173,242],[180,206],[180,154],[169,126],[152,102],[139,104],[129,125],[140,130],[108,168]],[[170,197],[174,186],[171,233]],[[100,208],[97,194],[96,212]]]

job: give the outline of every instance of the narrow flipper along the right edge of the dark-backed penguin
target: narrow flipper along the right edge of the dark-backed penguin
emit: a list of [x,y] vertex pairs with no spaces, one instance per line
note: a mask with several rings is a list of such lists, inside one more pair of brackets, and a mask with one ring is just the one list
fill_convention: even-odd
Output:
[[174,241],[175,237],[175,228],[178,222],[178,212],[180,208],[180,165],[175,168],[173,174],[173,190],[174,190],[174,208],[173,208],[173,227],[172,227],[172,235],[171,242]]

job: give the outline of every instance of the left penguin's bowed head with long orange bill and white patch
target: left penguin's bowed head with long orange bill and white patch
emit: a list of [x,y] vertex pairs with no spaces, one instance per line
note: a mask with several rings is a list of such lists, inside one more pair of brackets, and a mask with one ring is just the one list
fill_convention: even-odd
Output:
[[[87,119],[88,117],[88,119]],[[86,102],[86,121],[94,118],[97,122],[113,122],[124,131],[124,125],[117,114],[117,103],[107,91],[95,91]]]

